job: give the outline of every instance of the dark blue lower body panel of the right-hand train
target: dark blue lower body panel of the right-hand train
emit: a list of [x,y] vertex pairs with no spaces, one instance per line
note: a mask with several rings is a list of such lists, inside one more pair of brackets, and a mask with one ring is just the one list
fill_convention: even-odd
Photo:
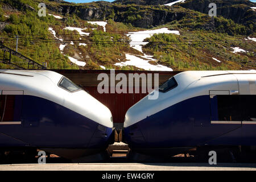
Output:
[[256,125],[211,120],[218,120],[216,98],[189,98],[126,127],[125,140],[131,149],[256,145]]

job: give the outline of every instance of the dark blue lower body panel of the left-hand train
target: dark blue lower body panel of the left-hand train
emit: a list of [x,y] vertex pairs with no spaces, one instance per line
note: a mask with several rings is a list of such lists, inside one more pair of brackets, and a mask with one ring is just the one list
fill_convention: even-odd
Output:
[[[34,96],[22,100],[20,125],[0,125],[0,147],[106,148],[112,128],[55,102]],[[18,111],[15,111],[17,113]]]

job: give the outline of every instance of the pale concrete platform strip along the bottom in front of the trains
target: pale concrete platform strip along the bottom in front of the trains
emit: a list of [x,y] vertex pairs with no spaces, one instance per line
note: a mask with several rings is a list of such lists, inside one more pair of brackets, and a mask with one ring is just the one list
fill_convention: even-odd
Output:
[[226,163],[88,163],[88,164],[8,164],[0,171],[256,171],[256,164]]

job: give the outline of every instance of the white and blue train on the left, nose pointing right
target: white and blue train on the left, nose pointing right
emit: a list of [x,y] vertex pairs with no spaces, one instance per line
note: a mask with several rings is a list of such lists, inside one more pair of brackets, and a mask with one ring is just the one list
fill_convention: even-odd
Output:
[[77,159],[112,142],[108,107],[59,73],[0,70],[0,93],[0,151],[39,148]]

